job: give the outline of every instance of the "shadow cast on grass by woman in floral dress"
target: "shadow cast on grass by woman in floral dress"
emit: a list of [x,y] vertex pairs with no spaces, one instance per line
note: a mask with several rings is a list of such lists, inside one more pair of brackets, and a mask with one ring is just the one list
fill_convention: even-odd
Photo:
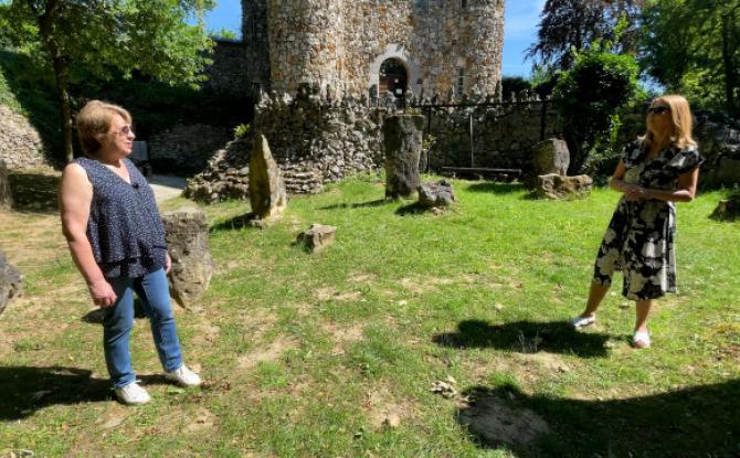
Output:
[[606,356],[609,335],[579,332],[567,322],[516,321],[490,324],[483,320],[465,320],[457,332],[437,334],[432,340],[442,347],[457,349],[495,348],[521,353],[547,351],[573,353],[581,358]]

